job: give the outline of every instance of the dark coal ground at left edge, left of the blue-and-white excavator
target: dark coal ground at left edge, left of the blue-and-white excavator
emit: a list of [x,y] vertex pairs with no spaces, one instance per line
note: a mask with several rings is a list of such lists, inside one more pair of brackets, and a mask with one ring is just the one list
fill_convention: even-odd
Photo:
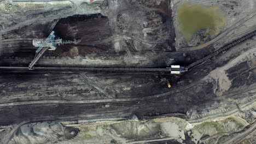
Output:
[[36,47],[32,45],[32,39],[48,37],[50,31],[45,29],[49,30],[52,23],[45,22],[37,25],[22,26],[19,29],[2,33],[3,40],[8,40],[8,43],[2,43],[3,50],[0,62],[3,63],[2,59],[4,58],[14,59],[15,57],[27,58],[28,61],[31,61],[30,59],[34,57],[36,51]]

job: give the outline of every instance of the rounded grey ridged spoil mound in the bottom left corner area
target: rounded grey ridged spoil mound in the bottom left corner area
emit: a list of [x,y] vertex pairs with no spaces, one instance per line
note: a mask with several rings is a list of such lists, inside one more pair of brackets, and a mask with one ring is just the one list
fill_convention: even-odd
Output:
[[9,144],[54,143],[72,139],[78,132],[77,128],[64,127],[57,122],[30,123],[22,125]]

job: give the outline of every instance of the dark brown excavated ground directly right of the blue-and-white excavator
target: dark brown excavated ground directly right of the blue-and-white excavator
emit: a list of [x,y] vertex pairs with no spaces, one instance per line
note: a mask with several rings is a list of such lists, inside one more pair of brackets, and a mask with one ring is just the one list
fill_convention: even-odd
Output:
[[[63,40],[79,39],[78,45],[60,45],[56,51],[48,51],[57,56],[86,56],[90,53],[111,52],[111,37],[113,34],[110,30],[108,18],[101,14],[93,15],[75,15],[61,19],[57,22],[53,31]],[[106,40],[106,43],[101,43]],[[49,54],[46,56],[49,56]]]

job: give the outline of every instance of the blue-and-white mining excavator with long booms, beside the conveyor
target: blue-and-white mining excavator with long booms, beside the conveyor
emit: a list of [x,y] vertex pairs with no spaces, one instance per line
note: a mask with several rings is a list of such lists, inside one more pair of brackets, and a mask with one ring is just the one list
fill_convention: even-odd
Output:
[[29,70],[34,69],[34,65],[37,63],[37,61],[42,57],[43,53],[46,50],[56,50],[56,46],[60,44],[77,44],[79,43],[80,40],[62,40],[60,38],[56,39],[56,35],[53,32],[50,33],[48,38],[38,38],[38,39],[33,39],[33,46],[39,47],[36,51],[36,56],[34,57],[33,61],[28,65]]

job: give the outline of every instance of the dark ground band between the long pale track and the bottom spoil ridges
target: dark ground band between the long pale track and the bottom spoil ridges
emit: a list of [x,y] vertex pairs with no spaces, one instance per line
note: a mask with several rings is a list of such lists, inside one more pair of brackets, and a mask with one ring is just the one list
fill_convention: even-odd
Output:
[[[180,95],[172,95],[179,97]],[[187,96],[189,97],[189,96]],[[184,98],[183,98],[184,99]],[[138,118],[148,116],[159,116],[166,113],[185,113],[190,106],[196,103],[201,104],[201,98],[191,98],[191,100],[150,99],[143,101],[131,101],[125,103],[97,103],[97,104],[30,104],[20,106],[1,107],[0,122],[2,125],[19,123],[21,121],[53,121],[79,118],[112,118],[129,117],[136,114]],[[197,101],[195,101],[197,99]],[[208,99],[210,100],[210,99]],[[207,101],[208,101],[207,100]],[[153,102],[152,102],[153,101]],[[140,102],[140,103],[138,103]],[[104,105],[109,108],[103,108]]]

